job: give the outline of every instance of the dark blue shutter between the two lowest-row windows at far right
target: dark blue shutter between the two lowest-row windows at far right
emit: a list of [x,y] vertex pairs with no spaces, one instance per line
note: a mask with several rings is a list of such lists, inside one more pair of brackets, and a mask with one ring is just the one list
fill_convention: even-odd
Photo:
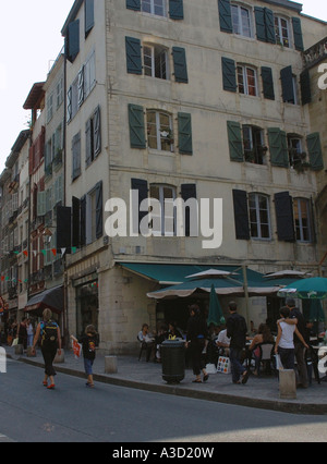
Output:
[[289,192],[275,194],[275,210],[278,240],[295,242],[293,200]]

